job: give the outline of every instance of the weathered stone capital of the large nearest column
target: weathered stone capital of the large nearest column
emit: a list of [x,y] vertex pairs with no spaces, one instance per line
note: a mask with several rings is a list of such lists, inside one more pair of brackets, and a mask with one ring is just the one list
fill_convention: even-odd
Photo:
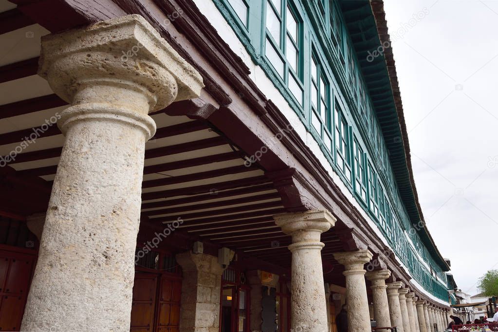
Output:
[[73,106],[59,127],[84,119],[125,121],[155,132],[147,116],[175,101],[198,97],[200,74],[140,15],[42,37],[38,74]]

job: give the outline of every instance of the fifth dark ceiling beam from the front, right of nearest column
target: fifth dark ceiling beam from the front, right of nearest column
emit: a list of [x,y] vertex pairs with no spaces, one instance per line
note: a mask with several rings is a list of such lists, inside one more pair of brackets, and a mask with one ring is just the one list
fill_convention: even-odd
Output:
[[264,175],[260,175],[241,180],[223,181],[208,185],[193,186],[193,187],[180,188],[180,189],[170,189],[170,190],[163,190],[152,193],[142,193],[142,201],[155,200],[158,198],[175,197],[175,196],[216,193],[216,191],[218,190],[235,189],[240,187],[260,185],[263,183],[268,183],[268,179]]

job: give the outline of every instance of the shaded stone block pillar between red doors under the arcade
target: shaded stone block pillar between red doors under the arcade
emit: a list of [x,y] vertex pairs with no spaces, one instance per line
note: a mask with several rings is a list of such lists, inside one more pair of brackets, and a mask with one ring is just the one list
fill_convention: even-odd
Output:
[[187,251],[176,261],[183,271],[180,332],[218,332],[223,274],[218,257]]

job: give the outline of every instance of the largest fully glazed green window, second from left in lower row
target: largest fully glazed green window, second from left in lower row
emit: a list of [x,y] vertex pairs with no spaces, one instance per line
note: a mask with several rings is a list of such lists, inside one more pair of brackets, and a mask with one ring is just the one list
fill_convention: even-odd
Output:
[[303,107],[302,19],[289,0],[264,1],[264,58]]

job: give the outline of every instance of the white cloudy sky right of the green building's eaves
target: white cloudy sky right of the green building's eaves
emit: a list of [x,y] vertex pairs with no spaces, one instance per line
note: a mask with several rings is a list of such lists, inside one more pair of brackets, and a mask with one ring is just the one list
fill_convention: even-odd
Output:
[[498,0],[384,7],[391,36],[406,31],[393,53],[427,227],[459,288],[474,295],[498,268]]

